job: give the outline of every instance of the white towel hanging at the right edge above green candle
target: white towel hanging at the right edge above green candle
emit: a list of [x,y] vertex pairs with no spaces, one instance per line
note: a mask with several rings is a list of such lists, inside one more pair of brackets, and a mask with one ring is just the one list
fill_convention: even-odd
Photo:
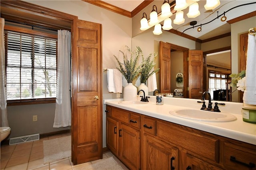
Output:
[[243,100],[245,104],[256,105],[256,36],[248,34],[246,60],[246,82]]

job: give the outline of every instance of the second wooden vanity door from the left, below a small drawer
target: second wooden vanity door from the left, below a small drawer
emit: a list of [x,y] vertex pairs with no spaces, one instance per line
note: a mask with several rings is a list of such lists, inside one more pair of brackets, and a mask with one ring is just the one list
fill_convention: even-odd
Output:
[[119,158],[130,168],[140,169],[140,131],[120,123]]

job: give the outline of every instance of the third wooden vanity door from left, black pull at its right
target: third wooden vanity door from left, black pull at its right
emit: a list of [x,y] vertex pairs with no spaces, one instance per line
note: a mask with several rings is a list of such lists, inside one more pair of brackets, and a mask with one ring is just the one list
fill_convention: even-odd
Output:
[[178,149],[150,135],[143,136],[142,169],[178,170]]

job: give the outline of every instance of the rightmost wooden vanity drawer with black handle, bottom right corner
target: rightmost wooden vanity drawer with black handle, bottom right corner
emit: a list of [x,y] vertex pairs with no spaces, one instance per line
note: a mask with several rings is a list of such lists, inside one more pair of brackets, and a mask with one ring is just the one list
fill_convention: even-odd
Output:
[[224,142],[224,166],[234,170],[256,170],[256,146],[250,149]]

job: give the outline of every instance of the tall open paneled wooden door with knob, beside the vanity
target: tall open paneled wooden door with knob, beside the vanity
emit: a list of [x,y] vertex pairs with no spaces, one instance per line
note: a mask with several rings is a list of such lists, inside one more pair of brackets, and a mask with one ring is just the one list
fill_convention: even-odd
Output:
[[74,20],[72,162],[102,158],[102,25]]

